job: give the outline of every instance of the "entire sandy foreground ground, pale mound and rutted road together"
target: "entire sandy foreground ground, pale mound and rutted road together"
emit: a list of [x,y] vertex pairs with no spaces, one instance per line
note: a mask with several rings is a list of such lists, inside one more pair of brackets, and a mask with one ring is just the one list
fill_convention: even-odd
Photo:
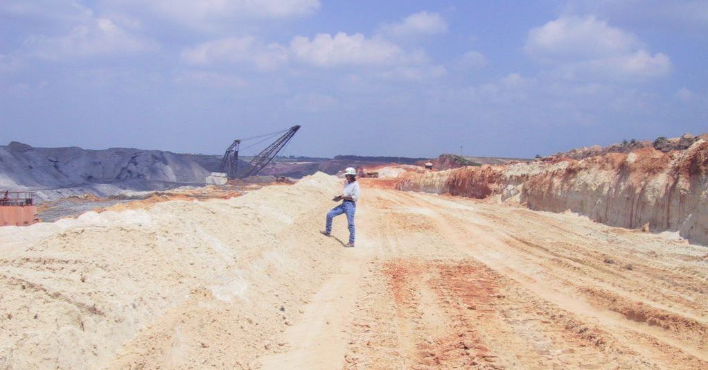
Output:
[[708,368],[706,248],[364,180],[0,228],[0,369]]

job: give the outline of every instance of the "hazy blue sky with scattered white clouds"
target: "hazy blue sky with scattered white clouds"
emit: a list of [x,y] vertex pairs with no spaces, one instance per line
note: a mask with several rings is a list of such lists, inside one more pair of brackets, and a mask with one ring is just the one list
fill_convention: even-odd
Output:
[[0,145],[220,154],[302,125],[283,154],[532,157],[708,132],[708,0],[2,0],[0,35]]

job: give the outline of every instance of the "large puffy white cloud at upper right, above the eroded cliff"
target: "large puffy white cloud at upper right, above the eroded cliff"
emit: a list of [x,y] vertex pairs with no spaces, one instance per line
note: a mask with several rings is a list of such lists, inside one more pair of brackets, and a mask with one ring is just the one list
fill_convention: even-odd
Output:
[[647,79],[671,70],[666,54],[650,54],[636,36],[593,16],[564,16],[533,28],[524,49],[570,79],[581,75]]

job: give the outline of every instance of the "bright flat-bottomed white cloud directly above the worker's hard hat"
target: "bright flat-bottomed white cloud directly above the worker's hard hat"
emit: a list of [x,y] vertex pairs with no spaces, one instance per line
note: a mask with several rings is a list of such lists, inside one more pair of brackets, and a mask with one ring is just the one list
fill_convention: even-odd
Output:
[[347,35],[319,33],[312,40],[296,36],[290,42],[290,52],[299,60],[318,67],[340,65],[390,65],[424,62],[421,53],[409,54],[398,45],[382,38],[366,38],[360,33]]

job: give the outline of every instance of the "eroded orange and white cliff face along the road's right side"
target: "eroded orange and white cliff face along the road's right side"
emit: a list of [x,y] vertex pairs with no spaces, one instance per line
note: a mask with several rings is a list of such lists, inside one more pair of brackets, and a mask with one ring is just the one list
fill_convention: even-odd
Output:
[[663,152],[642,147],[581,160],[465,167],[411,175],[400,190],[449,193],[530,209],[570,210],[604,224],[679,231],[708,245],[708,142]]

